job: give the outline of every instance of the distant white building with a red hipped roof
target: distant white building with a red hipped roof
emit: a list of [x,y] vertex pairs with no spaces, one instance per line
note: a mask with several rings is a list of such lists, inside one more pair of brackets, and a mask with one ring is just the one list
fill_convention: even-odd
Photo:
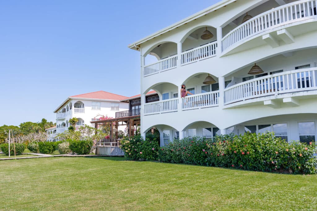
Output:
[[[62,133],[68,129],[69,119],[76,117],[76,128],[85,124],[94,127],[91,121],[100,117],[115,118],[116,112],[129,109],[129,103],[121,102],[126,96],[116,95],[106,91],[96,91],[68,97],[54,111],[56,113],[56,133]],[[119,130],[124,130],[120,127]]]

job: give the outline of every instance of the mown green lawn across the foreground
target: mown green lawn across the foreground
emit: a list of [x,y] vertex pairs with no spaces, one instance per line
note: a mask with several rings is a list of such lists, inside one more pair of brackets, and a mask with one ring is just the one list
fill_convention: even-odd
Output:
[[0,210],[316,210],[317,176],[77,157],[0,161]]

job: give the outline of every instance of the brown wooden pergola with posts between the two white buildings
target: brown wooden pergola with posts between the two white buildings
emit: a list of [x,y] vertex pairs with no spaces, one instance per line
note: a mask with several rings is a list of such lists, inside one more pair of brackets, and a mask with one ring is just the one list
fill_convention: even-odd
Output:
[[[99,125],[104,125],[104,123],[109,123],[110,127],[110,139],[117,140],[118,139],[118,127],[120,125],[126,125],[128,127],[128,137],[132,137],[134,135],[134,128],[137,128],[140,125],[140,115],[135,116],[126,116],[120,117],[115,119],[107,119],[107,120],[98,120],[98,121],[91,121],[90,123],[95,124],[95,128],[98,129]],[[114,126],[114,127],[112,127]]]

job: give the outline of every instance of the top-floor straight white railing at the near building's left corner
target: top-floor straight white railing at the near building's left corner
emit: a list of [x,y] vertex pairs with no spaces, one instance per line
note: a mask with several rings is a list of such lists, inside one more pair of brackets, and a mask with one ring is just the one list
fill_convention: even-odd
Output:
[[159,60],[158,62],[144,66],[144,76],[159,73],[175,68],[177,65],[177,55],[168,57],[166,59]]

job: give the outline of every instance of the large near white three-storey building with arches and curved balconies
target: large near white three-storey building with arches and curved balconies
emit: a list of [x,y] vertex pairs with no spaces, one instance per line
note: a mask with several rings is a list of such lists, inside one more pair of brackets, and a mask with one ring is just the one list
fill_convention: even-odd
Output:
[[[314,141],[316,3],[223,0],[130,44],[141,57],[142,135],[156,127],[161,146],[247,131]],[[181,98],[182,84],[193,95]],[[159,101],[146,102],[150,90]]]

